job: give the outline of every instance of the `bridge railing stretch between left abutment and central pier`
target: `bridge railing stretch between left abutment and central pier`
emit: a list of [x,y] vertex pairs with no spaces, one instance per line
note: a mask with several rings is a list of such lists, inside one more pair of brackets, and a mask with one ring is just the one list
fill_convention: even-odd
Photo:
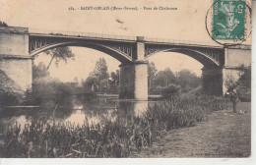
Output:
[[44,29],[36,29],[36,28],[30,28],[29,32],[30,33],[36,33],[36,34],[49,34],[49,35],[93,37],[93,38],[119,39],[119,40],[136,40],[135,36],[102,34],[102,33],[91,33],[91,32],[44,30]]

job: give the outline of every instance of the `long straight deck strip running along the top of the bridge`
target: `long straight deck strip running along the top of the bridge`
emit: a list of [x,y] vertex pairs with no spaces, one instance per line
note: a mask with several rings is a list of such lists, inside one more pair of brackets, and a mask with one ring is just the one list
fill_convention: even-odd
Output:
[[[125,41],[125,42],[135,42],[137,40],[137,36],[78,32],[78,31],[44,30],[44,29],[29,28],[29,27],[0,27],[0,32],[29,33],[32,36],[96,39],[96,40],[111,40],[111,41]],[[144,41],[145,43],[149,43],[149,44],[224,48],[223,45],[220,45],[218,43],[205,42],[205,41],[191,41],[191,40],[152,38],[152,37],[145,37]],[[250,49],[250,45],[240,45],[238,47]]]

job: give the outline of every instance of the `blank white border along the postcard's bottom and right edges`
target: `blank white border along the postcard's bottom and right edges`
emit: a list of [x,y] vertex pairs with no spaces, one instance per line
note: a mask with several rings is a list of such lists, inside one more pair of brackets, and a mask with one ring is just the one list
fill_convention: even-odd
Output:
[[[252,31],[256,29],[256,1],[252,1]],[[252,32],[252,73],[256,73],[256,32]],[[256,76],[252,74],[252,137],[251,157],[249,158],[0,158],[0,165],[253,165],[255,159],[256,128]]]

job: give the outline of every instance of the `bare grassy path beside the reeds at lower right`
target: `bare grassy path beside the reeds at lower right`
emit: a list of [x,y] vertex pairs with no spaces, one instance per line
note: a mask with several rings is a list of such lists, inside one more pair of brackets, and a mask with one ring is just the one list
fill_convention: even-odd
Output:
[[238,111],[214,112],[208,122],[167,133],[152,148],[132,157],[248,157],[251,153],[250,103],[239,102]]

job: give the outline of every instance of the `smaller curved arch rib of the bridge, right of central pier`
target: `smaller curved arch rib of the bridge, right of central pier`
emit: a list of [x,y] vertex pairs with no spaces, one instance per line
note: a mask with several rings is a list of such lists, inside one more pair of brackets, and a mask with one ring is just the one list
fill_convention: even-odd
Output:
[[198,62],[200,62],[206,68],[219,68],[221,66],[221,63],[217,61],[215,58],[199,50],[194,50],[190,48],[169,48],[169,49],[159,50],[147,55],[146,59],[160,52],[176,52],[176,53],[187,55],[197,60]]

